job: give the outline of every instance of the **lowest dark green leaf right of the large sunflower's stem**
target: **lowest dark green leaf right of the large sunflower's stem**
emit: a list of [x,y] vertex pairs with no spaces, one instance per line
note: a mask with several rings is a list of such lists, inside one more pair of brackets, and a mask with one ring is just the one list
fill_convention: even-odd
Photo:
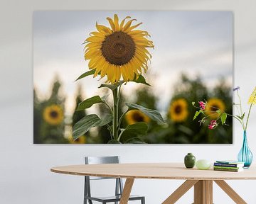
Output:
[[148,125],[143,122],[134,123],[132,125],[127,125],[127,128],[123,130],[120,141],[123,143],[127,143],[127,140],[130,140],[134,137],[138,137],[139,135],[146,135],[148,130]]

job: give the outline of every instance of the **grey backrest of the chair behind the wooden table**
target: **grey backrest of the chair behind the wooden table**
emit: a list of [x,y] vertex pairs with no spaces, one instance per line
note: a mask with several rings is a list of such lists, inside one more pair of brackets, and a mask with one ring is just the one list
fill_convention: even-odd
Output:
[[[111,157],[85,157],[85,164],[119,164],[119,156]],[[90,176],[90,180],[113,179],[107,177]]]

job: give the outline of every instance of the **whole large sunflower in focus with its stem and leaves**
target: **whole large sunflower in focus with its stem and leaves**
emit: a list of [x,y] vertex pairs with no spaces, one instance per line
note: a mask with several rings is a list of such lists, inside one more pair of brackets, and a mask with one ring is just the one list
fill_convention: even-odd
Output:
[[136,19],[127,16],[119,23],[119,18],[115,14],[113,19],[107,18],[107,21],[110,23],[110,28],[96,23],[97,31],[90,33],[90,37],[85,40],[85,60],[89,60],[90,71],[82,74],[77,80],[90,75],[99,76],[100,79],[107,77],[105,84],[101,84],[99,89],[107,88],[112,91],[113,104],[107,103],[107,96],[92,96],[79,103],[77,111],[102,103],[109,109],[109,113],[102,118],[95,114],[86,115],[75,123],[73,139],[78,139],[91,128],[107,125],[112,137],[108,143],[143,143],[139,136],[146,135],[148,125],[141,122],[122,128],[124,115],[129,111],[137,110],[151,120],[156,120],[157,123],[164,123],[161,114],[134,103],[125,103],[127,111],[119,117],[118,106],[122,85],[132,81],[150,86],[142,76],[142,72],[148,69],[147,63],[151,58],[148,48],[154,48],[154,45],[148,40],[150,37],[148,32],[135,29],[142,23],[132,26]]

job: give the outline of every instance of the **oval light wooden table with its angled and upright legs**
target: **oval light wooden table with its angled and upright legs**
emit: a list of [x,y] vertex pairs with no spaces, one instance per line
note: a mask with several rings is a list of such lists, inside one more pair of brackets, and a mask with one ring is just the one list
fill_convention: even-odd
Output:
[[213,203],[213,181],[232,198],[235,203],[246,203],[233,188],[224,180],[256,179],[255,166],[241,172],[186,169],[182,163],[153,164],[84,164],[73,166],[58,166],[50,169],[55,173],[126,178],[120,204],[127,204],[132,191],[134,179],[175,179],[186,180],[162,204],[176,203],[191,187],[194,186],[195,204]]

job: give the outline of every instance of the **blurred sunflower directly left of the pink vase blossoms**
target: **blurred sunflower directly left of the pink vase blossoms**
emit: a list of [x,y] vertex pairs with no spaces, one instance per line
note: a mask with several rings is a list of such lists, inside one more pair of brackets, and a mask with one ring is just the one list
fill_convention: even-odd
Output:
[[171,103],[169,115],[174,122],[181,123],[188,118],[188,103],[184,98],[179,98]]

